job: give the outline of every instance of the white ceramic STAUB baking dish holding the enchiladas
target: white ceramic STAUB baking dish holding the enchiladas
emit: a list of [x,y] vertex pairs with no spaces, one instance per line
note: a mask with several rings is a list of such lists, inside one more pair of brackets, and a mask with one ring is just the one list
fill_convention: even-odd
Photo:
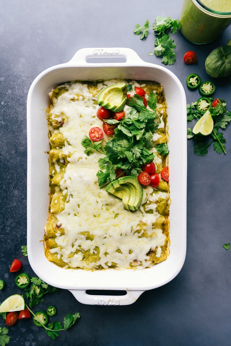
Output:
[[[123,57],[125,63],[87,63],[92,57]],[[98,79],[154,80],[163,85],[168,105],[170,170],[170,253],[166,261],[145,270],[84,271],[63,269],[44,255],[44,226],[48,215],[47,122],[44,108],[48,92],[70,80]],[[27,100],[28,181],[27,246],[34,272],[53,286],[68,289],[86,304],[131,304],[145,290],[160,287],[174,279],[186,255],[187,139],[186,98],[178,78],[165,67],[146,63],[128,48],[84,48],[65,64],[53,66],[37,76]],[[126,295],[89,295],[86,290],[126,290]]]

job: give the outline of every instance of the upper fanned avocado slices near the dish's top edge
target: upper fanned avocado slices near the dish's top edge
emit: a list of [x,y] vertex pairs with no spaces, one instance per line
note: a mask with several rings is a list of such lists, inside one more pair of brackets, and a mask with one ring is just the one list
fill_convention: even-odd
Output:
[[126,99],[127,84],[117,83],[101,90],[97,98],[97,103],[113,112],[119,112],[124,108]]

